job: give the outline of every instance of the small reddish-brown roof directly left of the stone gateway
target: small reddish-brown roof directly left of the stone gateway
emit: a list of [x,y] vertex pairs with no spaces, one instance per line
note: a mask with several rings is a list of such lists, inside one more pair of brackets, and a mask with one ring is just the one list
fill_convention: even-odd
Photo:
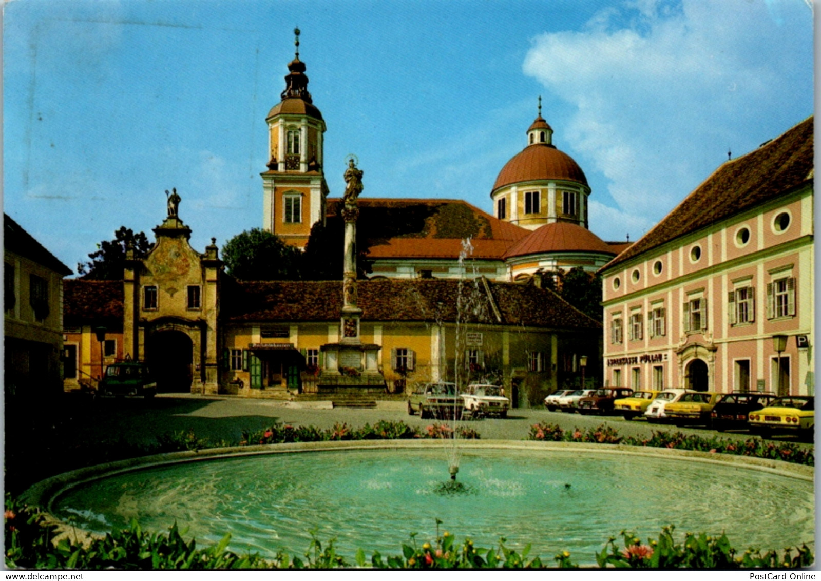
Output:
[[122,327],[122,281],[62,281],[62,320],[66,327],[108,323]]

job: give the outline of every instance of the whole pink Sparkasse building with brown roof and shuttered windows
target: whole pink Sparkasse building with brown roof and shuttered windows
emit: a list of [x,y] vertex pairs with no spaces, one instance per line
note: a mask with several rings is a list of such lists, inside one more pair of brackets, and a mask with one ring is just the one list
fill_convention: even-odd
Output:
[[814,395],[813,125],[725,162],[602,268],[605,385]]

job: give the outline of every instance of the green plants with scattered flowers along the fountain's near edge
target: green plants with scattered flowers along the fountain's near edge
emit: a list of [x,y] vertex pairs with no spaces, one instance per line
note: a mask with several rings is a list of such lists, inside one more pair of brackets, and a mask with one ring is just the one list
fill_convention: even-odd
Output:
[[[228,551],[231,535],[216,545],[196,546],[195,539],[186,541],[185,531],[177,524],[168,533],[148,533],[135,520],[128,528],[114,530],[104,538],[94,538],[83,545],[62,538],[54,542],[57,525],[47,523],[39,509],[24,506],[6,496],[5,512],[6,565],[11,569],[79,569],[79,570],[226,570],[226,569],[337,569],[351,567],[351,562],[337,553],[334,539],[328,544],[310,531],[311,542],[302,556],[289,556],[277,551],[273,559],[259,554],[237,555]],[[521,552],[508,548],[507,539],[499,538],[496,547],[475,547],[470,538],[461,544],[445,531],[420,546],[415,534],[410,542],[401,543],[401,555],[383,557],[374,551],[367,558],[361,548],[355,552],[355,566],[376,569],[544,569],[539,556],[530,557],[530,545]],[[608,539],[602,551],[595,555],[599,567],[658,569],[748,569],[809,567],[814,555],[809,547],[792,547],[778,551],[749,548],[736,551],[727,536],[711,537],[706,533],[686,533],[683,540],[673,536],[674,527],[667,526],[658,540],[643,544],[634,533],[621,531],[623,548],[615,537]],[[560,569],[576,568],[568,551],[553,557]]]

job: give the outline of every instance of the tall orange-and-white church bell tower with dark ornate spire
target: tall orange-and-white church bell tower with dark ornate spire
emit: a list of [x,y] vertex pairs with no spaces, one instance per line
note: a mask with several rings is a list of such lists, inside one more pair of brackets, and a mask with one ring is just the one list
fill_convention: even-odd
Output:
[[288,63],[282,101],[265,120],[269,161],[268,171],[262,173],[263,229],[304,248],[311,226],[325,219],[328,184],[323,172],[325,121],[308,92],[300,30],[294,34],[296,57]]

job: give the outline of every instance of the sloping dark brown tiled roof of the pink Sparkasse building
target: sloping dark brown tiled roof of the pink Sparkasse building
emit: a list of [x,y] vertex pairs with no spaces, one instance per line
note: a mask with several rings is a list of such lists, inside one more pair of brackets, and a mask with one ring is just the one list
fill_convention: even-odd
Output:
[[602,270],[811,183],[813,130],[814,117],[809,117],[759,149],[723,163],[652,230]]

